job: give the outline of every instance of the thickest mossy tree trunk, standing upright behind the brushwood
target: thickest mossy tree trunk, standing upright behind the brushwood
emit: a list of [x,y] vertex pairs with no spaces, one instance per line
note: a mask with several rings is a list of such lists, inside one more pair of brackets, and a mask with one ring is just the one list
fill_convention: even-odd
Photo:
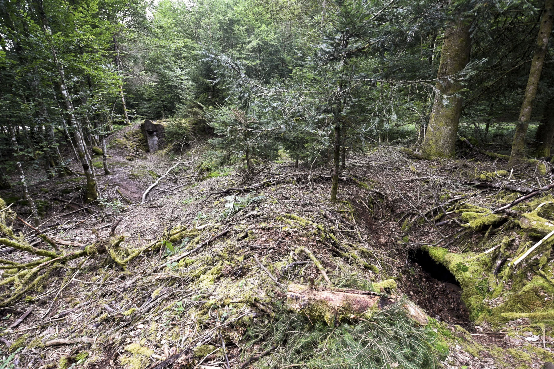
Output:
[[[435,94],[423,141],[423,151],[435,157],[453,157],[455,154],[462,102],[457,94],[462,86],[461,82],[452,76],[468,64],[471,50],[469,28],[466,20],[459,19],[444,32],[437,75],[439,80],[435,86],[438,92]],[[446,105],[443,100],[447,100]]]

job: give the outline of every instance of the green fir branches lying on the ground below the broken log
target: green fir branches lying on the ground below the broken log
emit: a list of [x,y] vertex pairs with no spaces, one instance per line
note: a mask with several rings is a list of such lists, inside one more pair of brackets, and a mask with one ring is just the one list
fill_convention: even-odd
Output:
[[429,330],[413,325],[403,303],[401,299],[378,311],[371,320],[336,327],[283,313],[274,323],[250,328],[247,337],[249,345],[267,340],[267,345],[276,346],[270,356],[259,361],[260,368],[270,368],[277,362],[283,367],[302,363],[308,368],[337,369],[437,367],[437,340]]

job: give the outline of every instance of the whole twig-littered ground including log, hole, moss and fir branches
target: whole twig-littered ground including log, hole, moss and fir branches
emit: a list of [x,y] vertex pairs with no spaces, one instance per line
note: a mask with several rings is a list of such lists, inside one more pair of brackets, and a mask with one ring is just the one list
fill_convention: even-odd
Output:
[[553,359],[549,164],[510,172],[481,153],[419,160],[385,146],[348,157],[330,204],[326,168],[285,158],[244,174],[207,168],[201,151],[131,161],[115,149],[98,204],[76,195],[80,177],[34,179],[38,228],[0,194],[0,367]]

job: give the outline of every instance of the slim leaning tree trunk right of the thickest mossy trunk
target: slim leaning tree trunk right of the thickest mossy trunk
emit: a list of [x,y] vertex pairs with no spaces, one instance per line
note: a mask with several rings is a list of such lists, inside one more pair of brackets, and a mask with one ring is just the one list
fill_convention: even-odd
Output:
[[537,48],[531,61],[531,70],[525,89],[525,96],[521,104],[519,119],[516,123],[516,132],[514,142],[512,142],[512,152],[510,154],[509,165],[512,167],[519,164],[525,154],[525,136],[527,127],[531,119],[533,102],[537,96],[538,82],[541,79],[542,66],[545,64],[545,55],[548,49],[548,37],[552,31],[552,20],[554,19],[554,0],[545,1],[545,10],[541,16],[541,24],[538,28]]

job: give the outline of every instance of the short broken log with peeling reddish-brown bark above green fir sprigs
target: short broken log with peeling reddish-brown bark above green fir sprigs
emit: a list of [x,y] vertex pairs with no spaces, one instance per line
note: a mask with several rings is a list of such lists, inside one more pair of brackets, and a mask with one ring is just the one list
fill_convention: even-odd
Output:
[[[376,313],[398,301],[398,297],[371,291],[304,284],[289,284],[286,296],[291,310],[306,314],[312,321],[324,320],[329,325],[343,319],[364,319],[366,314]],[[417,323],[428,323],[427,315],[417,305],[406,303],[404,308]]]

